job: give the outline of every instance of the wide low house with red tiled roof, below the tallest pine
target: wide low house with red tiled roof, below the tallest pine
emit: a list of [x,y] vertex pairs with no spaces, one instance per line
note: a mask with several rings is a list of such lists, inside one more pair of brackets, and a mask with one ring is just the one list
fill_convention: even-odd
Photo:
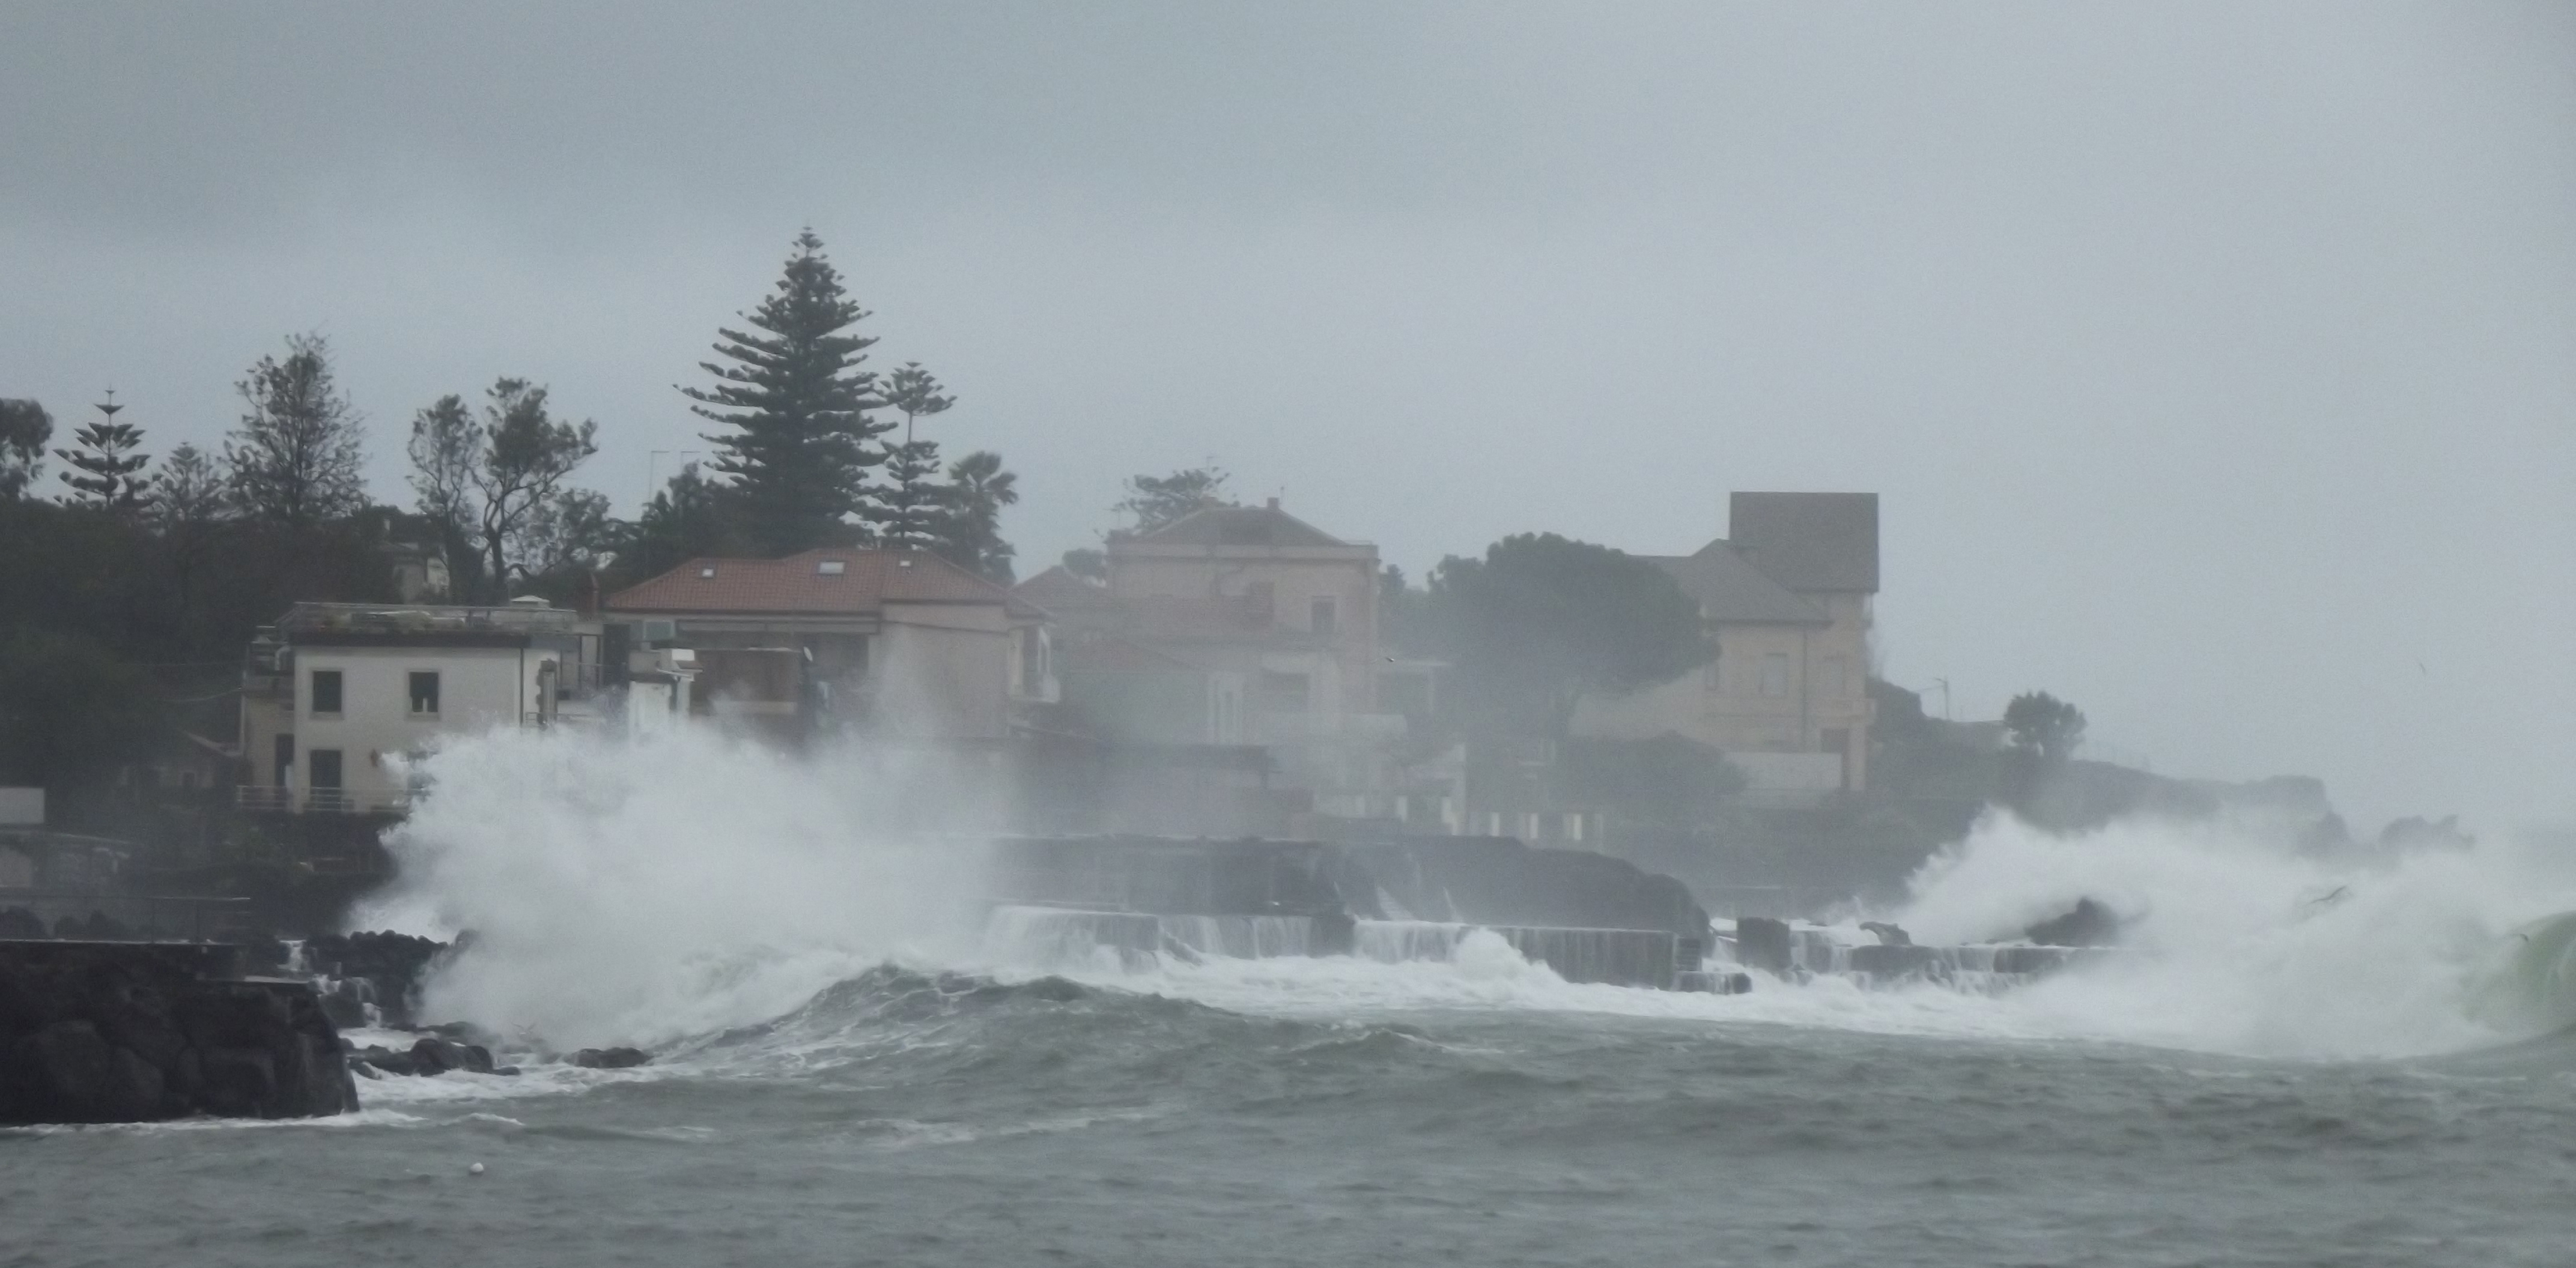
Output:
[[930,550],[693,558],[603,612],[693,653],[696,712],[768,730],[1002,741],[1059,697],[1046,615]]

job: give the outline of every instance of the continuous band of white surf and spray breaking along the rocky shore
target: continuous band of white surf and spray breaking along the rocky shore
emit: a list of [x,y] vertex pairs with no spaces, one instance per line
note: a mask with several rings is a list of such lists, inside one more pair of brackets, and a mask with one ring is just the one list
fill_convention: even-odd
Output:
[[505,730],[448,743],[420,774],[433,795],[389,838],[399,880],[355,923],[471,931],[425,985],[428,1013],[551,1049],[832,1065],[938,1047],[994,1016],[1115,1039],[1139,1016],[1177,1016],[1151,1008],[1213,1008],[1329,1026],[1551,1011],[2403,1057],[2576,1021],[2576,918],[2532,926],[2576,910],[2576,877],[2499,846],[2354,867],[2233,826],[2048,836],[1991,818],[1886,916],[1919,944],[1994,941],[2092,898],[2123,918],[2120,954],[1991,998],[1847,977],[1718,998],[1566,983],[1492,931],[1445,926],[1404,939],[1425,949],[1401,957],[1301,954],[1293,931],[1257,921],[1164,928],[1144,954],[997,936],[1012,921],[981,903],[979,851],[894,813],[935,800],[940,772],[866,754]]

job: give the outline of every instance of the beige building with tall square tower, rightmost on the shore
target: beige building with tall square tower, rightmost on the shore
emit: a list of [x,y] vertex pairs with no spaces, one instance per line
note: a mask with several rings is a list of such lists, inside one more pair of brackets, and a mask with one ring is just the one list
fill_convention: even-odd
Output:
[[1636,694],[1587,697],[1577,733],[1708,743],[1757,800],[1868,787],[1878,494],[1734,494],[1726,538],[1641,558],[1698,599],[1718,661]]

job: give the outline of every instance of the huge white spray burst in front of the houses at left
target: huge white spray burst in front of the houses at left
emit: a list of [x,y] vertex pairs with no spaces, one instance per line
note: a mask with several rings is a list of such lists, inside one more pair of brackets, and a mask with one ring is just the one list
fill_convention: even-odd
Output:
[[386,836],[399,877],[353,923],[471,931],[425,1013],[554,1047],[765,1021],[889,957],[953,954],[981,890],[979,849],[889,823],[945,784],[914,761],[497,730],[420,774],[430,795]]

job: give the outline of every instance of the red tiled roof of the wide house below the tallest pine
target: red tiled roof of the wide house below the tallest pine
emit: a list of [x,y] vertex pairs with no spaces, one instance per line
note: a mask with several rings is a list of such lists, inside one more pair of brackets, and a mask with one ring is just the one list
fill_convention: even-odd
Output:
[[[840,574],[822,563],[837,561]],[[693,558],[608,597],[611,612],[868,615],[899,602],[1025,602],[930,550],[822,548],[788,558]]]

